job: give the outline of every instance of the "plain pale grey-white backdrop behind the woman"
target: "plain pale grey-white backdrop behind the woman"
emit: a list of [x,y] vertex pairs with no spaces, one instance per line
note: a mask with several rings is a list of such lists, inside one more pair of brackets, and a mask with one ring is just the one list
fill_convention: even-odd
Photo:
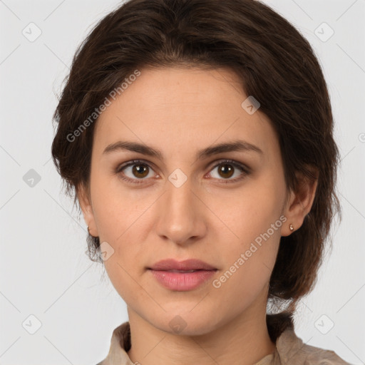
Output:
[[[341,151],[343,219],[333,227],[334,249],[317,286],[300,302],[296,332],[364,364],[365,1],[264,2],[317,53]],[[56,96],[76,47],[118,4],[0,1],[2,365],[95,365],[108,354],[113,329],[128,319],[101,264],[86,256],[86,225],[51,160]]]

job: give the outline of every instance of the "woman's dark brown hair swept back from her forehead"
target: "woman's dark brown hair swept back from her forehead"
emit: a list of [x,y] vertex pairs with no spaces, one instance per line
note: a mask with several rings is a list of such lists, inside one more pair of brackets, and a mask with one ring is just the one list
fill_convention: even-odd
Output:
[[[284,329],[294,328],[296,304],[314,287],[331,220],[340,213],[339,151],[327,84],[309,42],[289,21],[255,0],[121,4],[96,24],[73,56],[53,115],[53,162],[66,192],[75,190],[76,204],[81,186],[89,192],[96,125],[90,116],[97,120],[95,110],[136,69],[171,66],[235,71],[242,91],[259,101],[277,133],[287,189],[298,188],[297,173],[318,179],[312,209],[302,227],[281,237],[270,277],[268,302],[289,302],[284,311],[267,314],[269,335],[276,341]],[[81,130],[82,123],[88,128]],[[87,242],[89,258],[102,262],[99,238],[88,235]]]

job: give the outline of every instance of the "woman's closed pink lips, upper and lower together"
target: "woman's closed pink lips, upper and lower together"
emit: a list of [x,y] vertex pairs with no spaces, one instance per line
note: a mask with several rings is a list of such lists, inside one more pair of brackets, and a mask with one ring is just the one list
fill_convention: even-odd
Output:
[[195,289],[217,271],[215,267],[199,259],[187,259],[181,262],[165,259],[148,269],[163,287],[177,291]]

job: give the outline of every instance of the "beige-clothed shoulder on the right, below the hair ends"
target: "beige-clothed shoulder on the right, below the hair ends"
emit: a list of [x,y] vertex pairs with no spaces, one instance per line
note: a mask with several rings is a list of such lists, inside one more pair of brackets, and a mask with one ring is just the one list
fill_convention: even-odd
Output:
[[336,352],[304,344],[293,329],[286,329],[277,339],[279,364],[351,365]]

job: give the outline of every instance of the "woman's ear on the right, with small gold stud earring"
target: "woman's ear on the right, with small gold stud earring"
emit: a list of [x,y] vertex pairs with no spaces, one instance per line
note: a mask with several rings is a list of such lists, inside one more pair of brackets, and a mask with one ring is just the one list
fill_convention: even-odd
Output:
[[[290,190],[287,205],[284,207],[283,214],[287,217],[287,221],[282,227],[282,236],[289,236],[302,227],[304,218],[312,208],[317,191],[318,172],[314,168],[311,168],[311,170],[312,178],[305,176],[303,173],[296,173],[297,189],[295,191]],[[294,230],[290,230],[291,224]]]

